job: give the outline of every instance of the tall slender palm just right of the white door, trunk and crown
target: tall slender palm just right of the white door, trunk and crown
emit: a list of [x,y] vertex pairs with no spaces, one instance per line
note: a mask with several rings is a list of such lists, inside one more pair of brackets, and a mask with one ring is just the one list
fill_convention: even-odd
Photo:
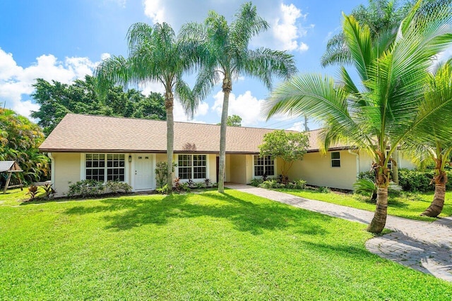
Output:
[[95,71],[101,90],[110,82],[129,83],[160,82],[165,87],[167,113],[167,165],[168,192],[172,188],[172,156],[174,146],[174,97],[179,97],[186,112],[193,113],[198,102],[182,74],[194,68],[196,47],[176,37],[167,23],[153,27],[145,23],[131,25],[127,33],[129,57],[112,56],[102,61]]

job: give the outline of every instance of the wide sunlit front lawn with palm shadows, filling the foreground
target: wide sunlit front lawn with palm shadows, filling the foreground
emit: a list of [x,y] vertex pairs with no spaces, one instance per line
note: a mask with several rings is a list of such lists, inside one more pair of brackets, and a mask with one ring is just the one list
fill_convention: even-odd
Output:
[[17,202],[0,195],[0,300],[450,300],[367,252],[366,225],[235,190]]

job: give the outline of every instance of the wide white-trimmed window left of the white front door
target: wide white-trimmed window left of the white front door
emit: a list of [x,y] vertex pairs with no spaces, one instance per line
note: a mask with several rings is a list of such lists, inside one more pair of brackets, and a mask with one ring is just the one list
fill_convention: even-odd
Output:
[[86,154],[86,180],[119,180],[124,182],[126,172],[124,154]]

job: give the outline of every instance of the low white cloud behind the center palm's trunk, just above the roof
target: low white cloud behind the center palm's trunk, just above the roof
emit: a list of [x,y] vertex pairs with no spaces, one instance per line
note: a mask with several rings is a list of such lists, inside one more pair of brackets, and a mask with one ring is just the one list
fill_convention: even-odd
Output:
[[[212,111],[215,111],[218,116],[221,116],[223,92],[218,92],[213,96],[215,103],[212,106]],[[234,93],[229,96],[229,108],[228,115],[238,115],[242,117],[243,126],[257,125],[261,121],[265,121],[265,118],[261,116],[261,105],[264,99],[257,99],[251,95],[250,91],[246,91],[244,94],[240,94],[238,97]]]

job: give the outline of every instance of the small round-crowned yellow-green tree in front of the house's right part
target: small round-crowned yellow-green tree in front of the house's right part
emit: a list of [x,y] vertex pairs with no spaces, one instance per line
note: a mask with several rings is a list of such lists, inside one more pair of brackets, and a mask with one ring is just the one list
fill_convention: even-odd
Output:
[[274,130],[263,136],[263,144],[259,145],[261,156],[272,156],[283,160],[281,175],[283,184],[287,183],[287,173],[292,164],[302,160],[309,147],[309,135],[307,133],[286,132]]

